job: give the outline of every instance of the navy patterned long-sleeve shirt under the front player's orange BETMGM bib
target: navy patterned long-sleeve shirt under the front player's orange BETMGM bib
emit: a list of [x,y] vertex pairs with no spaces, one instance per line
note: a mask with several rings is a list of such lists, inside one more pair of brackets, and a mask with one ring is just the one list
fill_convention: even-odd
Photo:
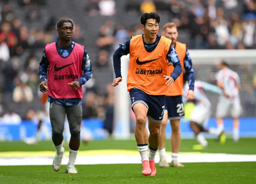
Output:
[[[143,40],[146,51],[152,52],[156,48],[160,38],[161,38],[161,36],[159,34],[157,34],[156,41],[152,44],[146,44]],[[114,64],[114,71],[116,74],[116,78],[122,77],[122,75],[121,75],[121,57],[124,55],[127,55],[129,53],[130,53],[130,40],[127,40],[124,44],[120,44],[119,48],[114,52],[113,64]],[[175,81],[178,78],[178,76],[180,76],[180,74],[182,72],[182,66],[180,64],[180,59],[179,59],[174,47],[172,46],[172,44],[170,45],[170,49],[168,51],[166,58],[167,58],[169,64],[174,66],[174,70],[171,74],[171,77]]]

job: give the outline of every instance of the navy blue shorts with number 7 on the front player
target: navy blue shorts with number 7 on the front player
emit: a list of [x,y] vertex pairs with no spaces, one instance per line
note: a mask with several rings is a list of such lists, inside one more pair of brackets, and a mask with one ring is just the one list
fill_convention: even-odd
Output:
[[130,98],[132,107],[134,104],[142,103],[148,108],[148,118],[157,123],[162,122],[165,95],[150,95],[138,88],[132,88],[130,89]]

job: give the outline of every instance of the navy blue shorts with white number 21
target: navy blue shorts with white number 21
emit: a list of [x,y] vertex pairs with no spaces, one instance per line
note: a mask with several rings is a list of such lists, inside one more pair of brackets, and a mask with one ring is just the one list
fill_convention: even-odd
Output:
[[185,118],[182,95],[166,96],[164,112],[168,112],[168,118],[170,120],[179,120]]

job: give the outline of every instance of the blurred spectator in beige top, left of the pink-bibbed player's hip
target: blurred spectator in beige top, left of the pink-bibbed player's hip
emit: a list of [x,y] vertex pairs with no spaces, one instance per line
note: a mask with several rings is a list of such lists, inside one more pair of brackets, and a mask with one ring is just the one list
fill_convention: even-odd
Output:
[[33,92],[31,87],[26,84],[27,81],[28,76],[22,74],[18,86],[16,86],[13,91],[12,98],[14,102],[32,102]]

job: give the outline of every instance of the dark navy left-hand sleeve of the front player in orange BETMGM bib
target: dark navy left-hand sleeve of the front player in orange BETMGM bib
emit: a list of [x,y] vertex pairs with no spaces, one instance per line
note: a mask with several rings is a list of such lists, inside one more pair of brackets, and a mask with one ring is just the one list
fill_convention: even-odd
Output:
[[130,40],[124,44],[119,44],[118,49],[113,54],[113,65],[116,78],[122,77],[121,75],[121,57],[130,53]]

